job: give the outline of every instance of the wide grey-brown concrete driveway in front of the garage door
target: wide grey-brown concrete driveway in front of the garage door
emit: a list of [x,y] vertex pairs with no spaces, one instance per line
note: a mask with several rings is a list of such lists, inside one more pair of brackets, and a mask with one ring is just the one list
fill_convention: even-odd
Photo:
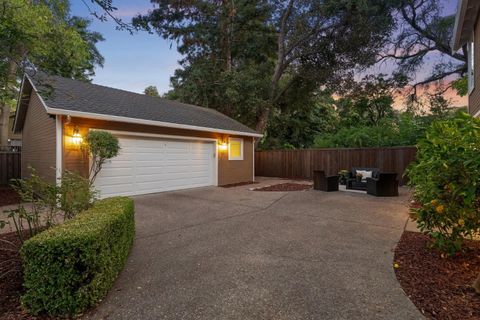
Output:
[[85,318],[421,319],[392,269],[402,193],[244,186],[136,197],[127,266]]

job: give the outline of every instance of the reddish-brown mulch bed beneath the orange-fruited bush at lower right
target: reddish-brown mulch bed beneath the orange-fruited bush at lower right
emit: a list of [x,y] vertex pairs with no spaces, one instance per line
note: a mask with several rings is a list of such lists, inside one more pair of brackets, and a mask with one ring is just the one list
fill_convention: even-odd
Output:
[[462,254],[442,258],[430,238],[405,231],[395,249],[395,274],[405,293],[430,319],[480,319],[480,241],[466,241]]

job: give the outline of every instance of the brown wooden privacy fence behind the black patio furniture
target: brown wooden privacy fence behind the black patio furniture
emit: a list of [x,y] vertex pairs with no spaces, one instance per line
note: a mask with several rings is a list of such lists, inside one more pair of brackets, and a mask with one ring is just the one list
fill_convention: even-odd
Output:
[[312,179],[313,170],[328,175],[352,167],[396,172],[401,183],[407,166],[415,160],[415,147],[269,150],[255,152],[255,174],[265,177]]

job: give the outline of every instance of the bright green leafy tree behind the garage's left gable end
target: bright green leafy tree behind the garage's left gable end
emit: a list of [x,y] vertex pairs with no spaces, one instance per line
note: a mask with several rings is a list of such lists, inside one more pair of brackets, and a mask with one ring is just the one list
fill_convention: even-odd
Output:
[[23,71],[86,80],[103,58],[100,34],[87,20],[70,17],[67,0],[0,0],[0,145],[7,144],[10,109]]

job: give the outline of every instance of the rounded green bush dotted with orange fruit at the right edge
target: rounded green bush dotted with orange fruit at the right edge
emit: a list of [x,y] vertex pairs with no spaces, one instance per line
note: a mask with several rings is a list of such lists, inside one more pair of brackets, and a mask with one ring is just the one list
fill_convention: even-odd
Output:
[[459,251],[480,230],[480,120],[459,113],[434,122],[407,175],[420,204],[412,209],[419,228],[441,251]]

